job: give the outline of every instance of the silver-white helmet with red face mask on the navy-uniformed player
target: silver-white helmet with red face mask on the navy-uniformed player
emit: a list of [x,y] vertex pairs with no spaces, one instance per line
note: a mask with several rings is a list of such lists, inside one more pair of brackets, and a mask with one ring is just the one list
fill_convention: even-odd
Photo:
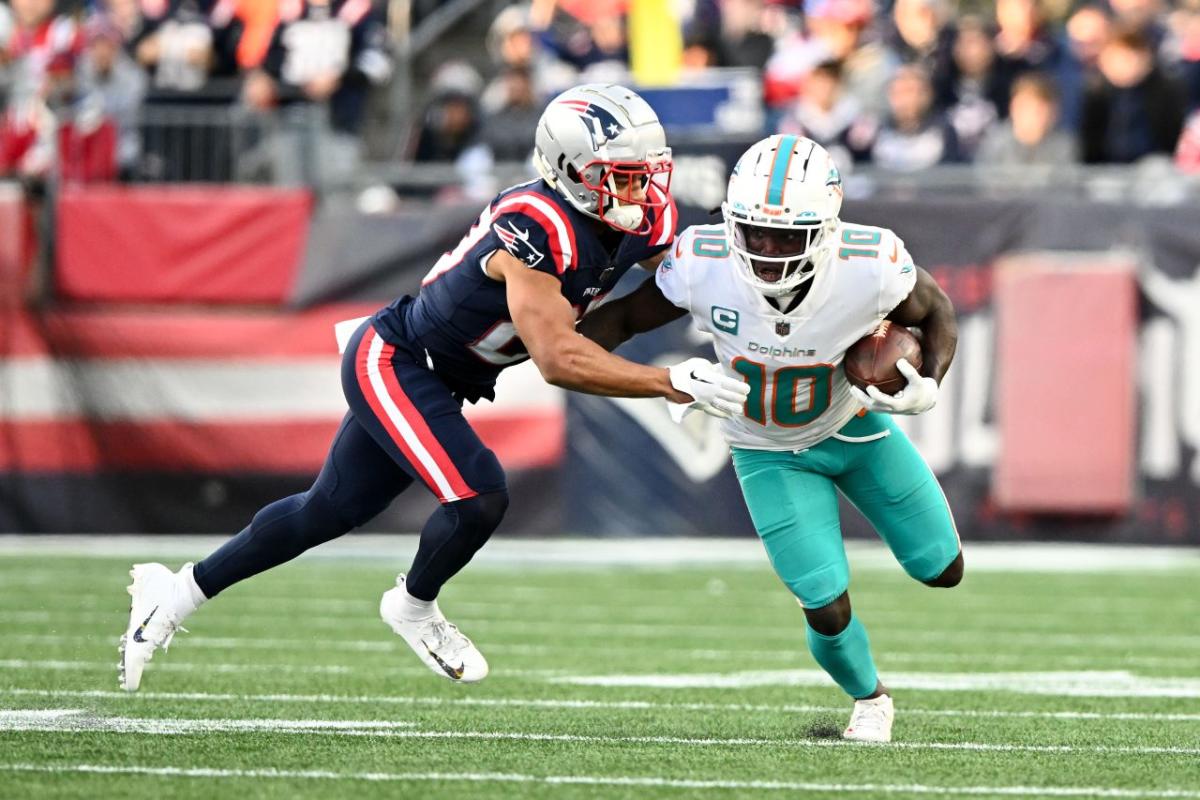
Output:
[[533,158],[568,203],[618,230],[649,233],[646,210],[671,201],[666,132],[649,103],[624,86],[586,84],[550,101]]

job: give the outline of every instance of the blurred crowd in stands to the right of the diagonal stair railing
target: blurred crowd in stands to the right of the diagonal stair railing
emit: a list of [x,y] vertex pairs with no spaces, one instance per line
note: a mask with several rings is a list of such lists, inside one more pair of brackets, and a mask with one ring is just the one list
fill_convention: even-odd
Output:
[[[491,83],[434,76],[416,158],[523,157],[540,103],[626,78],[626,0],[535,0],[488,36]],[[845,167],[1060,167],[1176,157],[1200,169],[1200,0],[694,0],[683,73],[761,71],[767,131]]]

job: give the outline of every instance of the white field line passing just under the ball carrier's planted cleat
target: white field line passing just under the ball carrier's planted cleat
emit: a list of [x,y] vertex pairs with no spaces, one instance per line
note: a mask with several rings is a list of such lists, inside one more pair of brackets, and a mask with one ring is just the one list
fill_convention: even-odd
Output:
[[[287,720],[166,720],[88,715],[78,709],[31,709],[28,712],[0,712],[0,730],[38,733],[187,734],[264,732],[334,736],[385,736],[390,739],[475,739],[482,741],[559,741],[593,745],[682,745],[688,747],[862,747],[842,739],[768,739],[762,736],[606,736],[599,734],[533,733],[526,730],[404,730],[372,727],[355,720],[329,721],[324,727],[288,726]],[[301,721],[304,722],[304,721]],[[312,722],[312,721],[310,721]],[[226,724],[228,723],[228,724]],[[1124,745],[1010,745],[980,741],[900,741],[880,745],[893,750],[943,750],[1000,753],[1104,753],[1122,756],[1200,756],[1200,747]]]

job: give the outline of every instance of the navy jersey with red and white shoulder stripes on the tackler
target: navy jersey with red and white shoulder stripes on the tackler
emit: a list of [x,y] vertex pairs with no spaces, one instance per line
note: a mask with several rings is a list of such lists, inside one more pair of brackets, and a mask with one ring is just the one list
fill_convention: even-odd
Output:
[[671,246],[674,201],[647,213],[648,234],[606,237],[606,247],[594,221],[545,181],[506,188],[438,259],[416,297],[401,297],[374,315],[376,329],[392,344],[422,347],[437,373],[467,399],[491,398],[500,371],[529,354],[512,325],[505,287],[487,277],[484,258],[504,249],[530,270],[553,275],[582,318],[629,267]]

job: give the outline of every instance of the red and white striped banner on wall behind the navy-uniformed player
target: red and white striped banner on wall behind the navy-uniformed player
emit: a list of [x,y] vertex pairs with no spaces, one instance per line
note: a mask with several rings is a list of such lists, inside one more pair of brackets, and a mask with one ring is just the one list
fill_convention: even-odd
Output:
[[[334,324],[302,313],[78,311],[0,326],[0,471],[316,471],[346,413]],[[467,416],[509,469],[564,449],[562,393],[526,365]]]

